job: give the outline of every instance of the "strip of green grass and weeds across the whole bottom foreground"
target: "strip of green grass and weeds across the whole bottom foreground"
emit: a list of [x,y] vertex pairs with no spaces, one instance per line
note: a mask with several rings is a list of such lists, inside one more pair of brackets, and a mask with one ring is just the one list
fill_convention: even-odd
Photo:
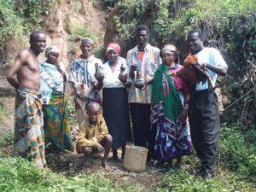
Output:
[[[198,166],[195,155],[184,158],[186,166],[182,171],[149,168],[147,172],[137,173],[137,176],[162,177],[155,186],[145,188],[130,177],[123,181],[116,172],[102,177],[100,172],[79,174],[65,177],[61,173],[49,169],[43,171],[26,160],[12,158],[0,154],[0,191],[253,191],[255,183],[248,182],[236,172],[218,170],[218,176],[210,181],[192,174]],[[188,165],[187,163],[192,163]],[[150,178],[149,177],[149,178]],[[151,179],[149,179],[151,180]]]

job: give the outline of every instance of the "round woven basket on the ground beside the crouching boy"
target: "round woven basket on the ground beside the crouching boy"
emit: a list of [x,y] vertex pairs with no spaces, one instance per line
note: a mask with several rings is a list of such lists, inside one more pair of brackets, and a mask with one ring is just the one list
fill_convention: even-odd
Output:
[[127,171],[143,172],[146,169],[148,148],[126,145],[124,167]]

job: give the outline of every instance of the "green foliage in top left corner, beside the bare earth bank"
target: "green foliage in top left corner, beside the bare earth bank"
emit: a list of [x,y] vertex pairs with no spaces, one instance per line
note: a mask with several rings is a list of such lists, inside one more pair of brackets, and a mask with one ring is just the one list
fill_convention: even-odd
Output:
[[43,16],[58,0],[0,0],[0,61],[8,61],[9,42],[25,44],[27,32],[41,29]]

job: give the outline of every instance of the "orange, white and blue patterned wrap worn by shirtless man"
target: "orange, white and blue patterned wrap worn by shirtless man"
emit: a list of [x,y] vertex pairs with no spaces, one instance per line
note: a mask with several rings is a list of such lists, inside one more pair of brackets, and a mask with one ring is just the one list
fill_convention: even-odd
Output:
[[43,167],[44,120],[39,92],[19,90],[15,97],[15,154]]

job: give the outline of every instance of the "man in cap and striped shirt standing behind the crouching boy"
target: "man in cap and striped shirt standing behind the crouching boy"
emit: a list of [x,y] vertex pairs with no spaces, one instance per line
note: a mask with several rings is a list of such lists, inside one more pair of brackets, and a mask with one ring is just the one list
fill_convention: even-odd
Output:
[[92,54],[94,42],[91,38],[82,38],[82,54],[71,63],[69,81],[73,83],[75,109],[79,127],[86,115],[85,105],[88,102],[102,102],[101,92],[96,90],[96,67],[102,67],[102,61]]

